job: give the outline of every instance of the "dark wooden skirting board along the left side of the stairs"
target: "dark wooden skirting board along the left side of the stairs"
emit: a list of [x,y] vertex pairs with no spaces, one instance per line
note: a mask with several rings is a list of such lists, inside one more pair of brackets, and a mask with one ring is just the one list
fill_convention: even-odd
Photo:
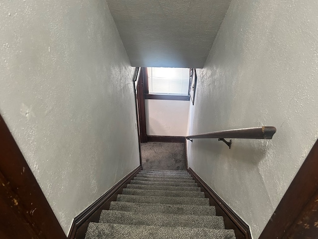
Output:
[[80,213],[73,221],[68,239],[84,239],[88,224],[90,222],[98,222],[101,211],[109,209],[110,203],[116,201],[117,195],[122,193],[123,189],[130,183],[136,174],[140,172],[140,170],[142,170],[142,167],[138,166]]

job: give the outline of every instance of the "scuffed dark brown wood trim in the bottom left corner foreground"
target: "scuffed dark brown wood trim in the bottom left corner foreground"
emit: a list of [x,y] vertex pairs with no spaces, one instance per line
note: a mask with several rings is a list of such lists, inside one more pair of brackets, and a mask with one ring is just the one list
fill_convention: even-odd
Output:
[[0,152],[1,238],[5,239],[9,235],[8,238],[19,239],[66,239],[61,225],[1,116]]

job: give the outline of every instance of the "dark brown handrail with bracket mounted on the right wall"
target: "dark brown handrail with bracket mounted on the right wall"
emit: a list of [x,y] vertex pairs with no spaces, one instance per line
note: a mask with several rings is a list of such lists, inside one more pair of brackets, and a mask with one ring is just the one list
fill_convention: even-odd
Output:
[[260,126],[200,133],[188,135],[185,138],[190,141],[192,141],[193,138],[218,138],[219,141],[224,141],[231,148],[232,139],[228,142],[224,138],[271,139],[275,132],[276,128],[273,126]]

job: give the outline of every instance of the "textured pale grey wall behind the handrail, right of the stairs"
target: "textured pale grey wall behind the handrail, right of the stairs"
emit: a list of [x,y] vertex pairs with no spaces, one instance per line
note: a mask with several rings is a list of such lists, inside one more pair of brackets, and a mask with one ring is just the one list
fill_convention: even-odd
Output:
[[188,142],[189,166],[257,239],[318,137],[318,1],[233,0],[202,70],[189,133],[276,126],[272,140]]

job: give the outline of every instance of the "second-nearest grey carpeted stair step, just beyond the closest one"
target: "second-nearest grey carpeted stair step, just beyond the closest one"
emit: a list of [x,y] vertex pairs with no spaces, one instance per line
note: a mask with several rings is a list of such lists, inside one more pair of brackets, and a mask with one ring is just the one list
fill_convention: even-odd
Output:
[[223,217],[156,213],[141,214],[114,210],[103,210],[99,222],[160,227],[225,229]]

